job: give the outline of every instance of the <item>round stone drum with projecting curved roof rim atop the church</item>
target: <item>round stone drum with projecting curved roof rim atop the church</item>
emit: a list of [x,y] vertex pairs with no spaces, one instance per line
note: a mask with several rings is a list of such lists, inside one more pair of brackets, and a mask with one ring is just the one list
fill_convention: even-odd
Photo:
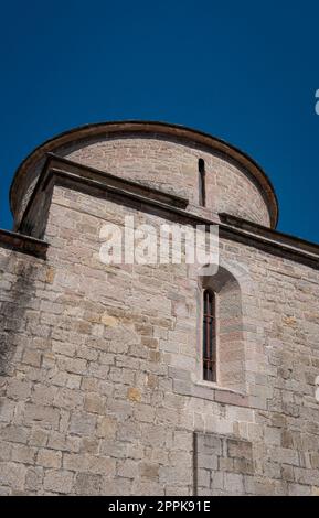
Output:
[[199,159],[204,160],[208,213],[276,226],[273,186],[247,155],[213,137],[182,127],[114,122],[83,127],[45,142],[19,168],[11,187],[15,224],[22,217],[47,152],[187,197],[199,207]]

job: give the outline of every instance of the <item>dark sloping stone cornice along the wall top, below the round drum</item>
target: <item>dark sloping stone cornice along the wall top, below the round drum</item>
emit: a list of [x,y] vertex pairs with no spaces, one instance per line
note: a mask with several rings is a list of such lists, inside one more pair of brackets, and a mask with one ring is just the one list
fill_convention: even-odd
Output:
[[23,233],[24,228],[32,227],[32,219],[39,216],[41,196],[49,185],[84,190],[91,195],[103,196],[118,204],[130,203],[138,211],[156,212],[163,218],[181,224],[205,225],[206,227],[219,225],[221,237],[319,269],[319,245],[224,213],[219,217],[200,216],[192,213],[190,207],[181,208],[188,205],[185,198],[102,173],[54,154],[47,155],[19,231]]

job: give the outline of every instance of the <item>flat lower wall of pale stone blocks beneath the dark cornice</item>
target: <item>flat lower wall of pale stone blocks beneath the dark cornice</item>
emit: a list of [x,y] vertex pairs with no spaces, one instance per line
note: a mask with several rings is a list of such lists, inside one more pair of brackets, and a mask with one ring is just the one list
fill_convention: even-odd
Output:
[[246,384],[212,388],[194,270],[99,260],[103,224],[128,214],[162,223],[55,187],[47,260],[0,249],[2,494],[318,494],[318,272],[221,240]]

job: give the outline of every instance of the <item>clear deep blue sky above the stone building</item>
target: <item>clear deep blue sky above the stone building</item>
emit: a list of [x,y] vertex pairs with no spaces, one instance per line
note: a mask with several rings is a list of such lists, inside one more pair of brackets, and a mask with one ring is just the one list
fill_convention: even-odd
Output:
[[275,185],[278,229],[319,242],[318,2],[12,0],[0,53],[0,227],[34,147],[88,122],[148,119],[249,153]]

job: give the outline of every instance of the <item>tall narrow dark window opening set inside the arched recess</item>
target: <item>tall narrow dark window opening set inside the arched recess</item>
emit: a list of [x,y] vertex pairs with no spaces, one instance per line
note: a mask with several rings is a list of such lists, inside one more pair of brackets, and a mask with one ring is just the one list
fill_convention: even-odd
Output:
[[204,290],[203,299],[203,379],[216,381],[215,294]]

